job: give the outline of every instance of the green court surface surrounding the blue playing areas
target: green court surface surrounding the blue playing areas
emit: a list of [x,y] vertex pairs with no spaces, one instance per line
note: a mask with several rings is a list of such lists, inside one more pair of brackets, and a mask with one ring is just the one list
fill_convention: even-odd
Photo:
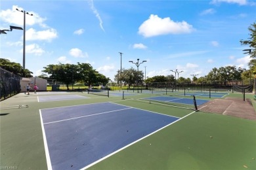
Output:
[[[133,93],[124,99],[121,95],[105,97],[79,92],[54,95],[89,98],[38,102],[43,95],[19,93],[1,101],[2,108],[28,105],[22,109],[1,109],[1,169],[47,169],[39,109],[107,101],[181,119],[88,169],[256,169],[255,120],[149,103],[141,100],[148,97],[144,93]],[[240,93],[228,96],[242,99]],[[253,94],[246,94],[246,98],[255,107]]]

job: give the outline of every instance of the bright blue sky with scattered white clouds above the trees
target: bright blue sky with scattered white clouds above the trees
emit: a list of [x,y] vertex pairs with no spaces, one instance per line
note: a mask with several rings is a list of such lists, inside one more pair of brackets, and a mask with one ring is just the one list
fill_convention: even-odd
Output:
[[[1,1],[0,29],[23,27],[26,69],[33,76],[49,64],[90,63],[114,80],[117,70],[146,60],[146,76],[205,76],[213,67],[248,69],[240,44],[256,22],[256,1]],[[1,58],[22,65],[23,31],[1,34]],[[122,52],[122,62],[119,52]]]

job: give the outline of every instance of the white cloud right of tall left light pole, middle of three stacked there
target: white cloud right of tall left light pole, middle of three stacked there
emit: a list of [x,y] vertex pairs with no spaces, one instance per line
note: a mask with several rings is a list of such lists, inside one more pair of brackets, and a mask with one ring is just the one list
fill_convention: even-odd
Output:
[[27,41],[45,40],[45,41],[51,42],[56,37],[57,37],[57,32],[53,28],[47,29],[44,31],[35,31],[35,29],[30,28],[26,31]]

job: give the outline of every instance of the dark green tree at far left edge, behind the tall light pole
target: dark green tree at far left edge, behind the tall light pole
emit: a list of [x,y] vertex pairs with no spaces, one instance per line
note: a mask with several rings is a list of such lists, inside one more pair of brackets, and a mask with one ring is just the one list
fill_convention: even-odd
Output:
[[23,77],[32,77],[33,72],[28,69],[23,69],[20,63],[11,62],[9,59],[0,58],[0,67],[10,71],[14,75]]

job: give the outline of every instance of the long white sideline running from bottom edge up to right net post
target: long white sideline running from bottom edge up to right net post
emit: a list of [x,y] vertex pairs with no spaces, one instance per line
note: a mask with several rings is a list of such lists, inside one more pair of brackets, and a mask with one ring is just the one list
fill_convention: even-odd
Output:
[[[196,111],[194,111],[194,112],[196,112]],[[192,114],[192,113],[194,113],[194,112],[190,112],[190,114]],[[187,114],[186,116],[189,116],[190,114]],[[182,118],[180,118],[180,119],[178,119],[178,120],[175,120],[174,122],[171,122],[171,124],[174,124],[174,123],[178,122],[179,120],[182,120],[183,118],[186,118],[186,116],[183,116]],[[171,124],[167,124],[167,126],[170,126]],[[164,128],[167,127],[167,126],[161,127],[160,129],[158,129],[158,130],[156,130],[156,131],[154,131],[154,132],[152,132],[152,133],[150,133],[150,134],[148,134],[148,135],[146,135],[146,136],[144,136],[144,137],[138,139],[137,141],[134,141],[133,143],[130,143],[130,144],[124,146],[123,148],[120,148],[119,150],[116,150],[115,152],[112,152],[111,154],[108,154],[108,155],[105,156],[104,158],[101,158],[100,160],[97,160],[97,161],[91,163],[90,165],[87,165],[86,167],[83,167],[82,169],[87,169],[87,168],[89,168],[89,167],[95,165],[96,163],[98,163],[98,162],[100,162],[100,161],[102,161],[102,160],[105,160],[106,158],[108,158],[108,157],[110,157],[110,156],[116,154],[117,152],[120,152],[121,150],[123,150],[123,149],[125,149],[125,148],[131,146],[132,144],[135,144],[135,143],[141,141],[142,139],[145,139],[146,137],[148,137],[148,136],[150,136],[150,135],[153,135],[154,133],[160,131],[161,129],[164,129]],[[82,169],[80,169],[80,170],[82,170]]]

